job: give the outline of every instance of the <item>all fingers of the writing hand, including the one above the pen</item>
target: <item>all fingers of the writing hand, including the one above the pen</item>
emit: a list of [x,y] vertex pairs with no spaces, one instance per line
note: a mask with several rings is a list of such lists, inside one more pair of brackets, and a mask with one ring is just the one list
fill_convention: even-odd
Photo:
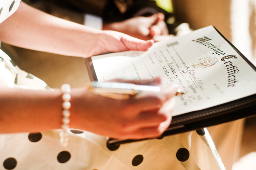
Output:
[[[114,79],[115,82],[136,84],[159,84],[160,78],[150,80],[123,80]],[[158,92],[141,92],[135,96],[118,100],[115,116],[112,116],[113,124],[109,127],[116,129],[109,132],[109,137],[144,139],[160,136],[170,125],[172,112],[175,108],[177,87],[173,84],[164,86]],[[113,102],[110,102],[113,103]],[[114,106],[113,106],[114,107]],[[116,114],[115,114],[116,113]]]

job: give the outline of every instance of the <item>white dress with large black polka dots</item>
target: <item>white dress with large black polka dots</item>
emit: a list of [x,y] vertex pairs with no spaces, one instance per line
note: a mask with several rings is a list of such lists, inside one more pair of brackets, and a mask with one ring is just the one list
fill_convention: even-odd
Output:
[[[0,0],[0,22],[20,0]],[[0,51],[1,88],[50,89],[20,70]],[[0,103],[1,107],[1,103]],[[1,110],[0,110],[0,114]],[[49,113],[50,114],[50,113]],[[71,120],[72,121],[72,120]],[[197,131],[107,146],[108,137],[69,129],[69,144],[59,142],[60,129],[0,135],[0,169],[5,170],[224,170],[206,128]]]

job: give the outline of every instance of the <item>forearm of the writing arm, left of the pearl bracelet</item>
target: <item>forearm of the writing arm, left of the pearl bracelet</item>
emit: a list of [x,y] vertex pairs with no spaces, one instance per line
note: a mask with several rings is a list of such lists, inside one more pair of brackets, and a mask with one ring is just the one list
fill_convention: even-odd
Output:
[[0,133],[61,128],[61,92],[1,88]]

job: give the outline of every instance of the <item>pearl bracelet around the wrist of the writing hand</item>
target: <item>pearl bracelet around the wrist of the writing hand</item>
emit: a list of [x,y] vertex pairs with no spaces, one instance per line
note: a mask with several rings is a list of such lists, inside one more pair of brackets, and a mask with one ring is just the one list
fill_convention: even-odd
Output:
[[69,116],[70,116],[70,112],[69,112],[69,109],[71,107],[71,104],[70,104],[70,99],[71,99],[71,96],[70,96],[70,91],[71,91],[71,88],[69,86],[69,84],[63,84],[61,86],[61,92],[62,92],[62,100],[63,100],[63,104],[62,104],[62,107],[63,107],[63,112],[62,112],[62,116],[63,116],[63,119],[62,119],[62,122],[63,122],[63,125],[61,126],[62,128],[62,132],[60,133],[60,144],[63,146],[63,147],[67,147],[68,146],[68,124],[70,122],[69,120]]

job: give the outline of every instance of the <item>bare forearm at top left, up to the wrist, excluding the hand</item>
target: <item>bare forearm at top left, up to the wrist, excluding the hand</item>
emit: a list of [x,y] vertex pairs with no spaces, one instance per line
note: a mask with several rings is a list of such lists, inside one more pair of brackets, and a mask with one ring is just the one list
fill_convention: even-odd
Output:
[[[33,17],[31,17],[33,16]],[[25,3],[0,24],[3,42],[33,50],[87,57],[99,31],[46,14]]]

